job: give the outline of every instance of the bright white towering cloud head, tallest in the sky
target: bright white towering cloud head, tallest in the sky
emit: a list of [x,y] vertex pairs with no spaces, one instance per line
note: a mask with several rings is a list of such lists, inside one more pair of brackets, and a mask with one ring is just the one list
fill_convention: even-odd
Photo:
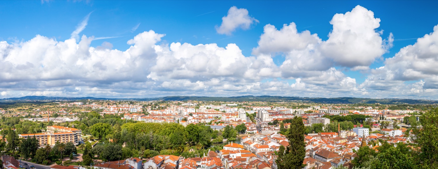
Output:
[[333,16],[330,24],[333,29],[322,43],[321,52],[337,65],[370,66],[385,53],[381,34],[375,31],[380,19],[374,18],[371,10],[358,5],[351,12]]

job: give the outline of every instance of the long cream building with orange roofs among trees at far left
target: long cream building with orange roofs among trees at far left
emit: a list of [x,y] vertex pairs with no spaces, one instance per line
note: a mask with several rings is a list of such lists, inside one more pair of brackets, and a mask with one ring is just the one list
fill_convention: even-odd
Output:
[[55,145],[57,142],[72,142],[76,144],[76,133],[74,132],[21,134],[18,137],[23,139],[36,138],[39,141],[39,145]]

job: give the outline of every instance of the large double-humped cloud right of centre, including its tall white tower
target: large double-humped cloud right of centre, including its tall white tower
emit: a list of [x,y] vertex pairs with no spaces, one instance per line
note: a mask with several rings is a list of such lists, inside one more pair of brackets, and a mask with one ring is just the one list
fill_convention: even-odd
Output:
[[310,31],[298,32],[295,23],[284,24],[280,30],[268,24],[252,53],[285,57],[280,66],[284,78],[318,76],[333,66],[364,71],[387,52],[394,41],[392,33],[382,40],[381,32],[375,31],[379,22],[372,11],[357,6],[351,12],[332,18],[333,30],[327,41]]

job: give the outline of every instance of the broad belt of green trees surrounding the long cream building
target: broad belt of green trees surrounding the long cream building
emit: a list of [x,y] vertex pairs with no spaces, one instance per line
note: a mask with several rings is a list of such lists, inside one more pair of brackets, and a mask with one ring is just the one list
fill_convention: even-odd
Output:
[[[82,165],[89,165],[89,162],[96,158],[114,161],[138,156],[150,158],[160,154],[199,157],[207,154],[208,149],[222,149],[221,146],[212,147],[213,142],[222,142],[223,138],[234,141],[237,132],[245,132],[247,129],[244,124],[236,128],[226,126],[223,131],[215,131],[205,124],[189,124],[184,127],[177,123],[143,123],[122,120],[123,115],[101,116],[96,112],[81,113],[78,117],[79,121],[58,125],[74,125],[75,128],[81,129],[83,134],[92,135],[85,136],[85,144],[78,145],[78,148],[84,151]],[[13,117],[0,119],[0,124],[3,129],[7,129],[2,130],[1,134],[9,141],[8,144],[0,142],[0,152],[17,158],[31,158],[38,163],[59,163],[58,159],[61,157],[78,152],[76,146],[71,143],[58,143],[53,148],[45,146],[37,149],[40,145],[35,145],[38,144],[35,139],[18,139],[18,134],[39,133],[47,125],[53,125],[53,122],[20,121],[18,117]],[[16,131],[9,128],[15,128]],[[92,143],[98,140],[99,143],[92,148]],[[191,149],[194,151],[190,151]]]

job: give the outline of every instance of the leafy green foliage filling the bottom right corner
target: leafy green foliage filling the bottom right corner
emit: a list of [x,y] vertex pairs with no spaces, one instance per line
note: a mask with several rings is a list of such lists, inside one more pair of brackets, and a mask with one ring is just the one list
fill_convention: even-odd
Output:
[[435,169],[438,168],[438,109],[428,110],[420,117],[423,128],[413,128],[413,143],[382,141],[376,152],[367,146],[357,151],[352,163],[367,169]]

